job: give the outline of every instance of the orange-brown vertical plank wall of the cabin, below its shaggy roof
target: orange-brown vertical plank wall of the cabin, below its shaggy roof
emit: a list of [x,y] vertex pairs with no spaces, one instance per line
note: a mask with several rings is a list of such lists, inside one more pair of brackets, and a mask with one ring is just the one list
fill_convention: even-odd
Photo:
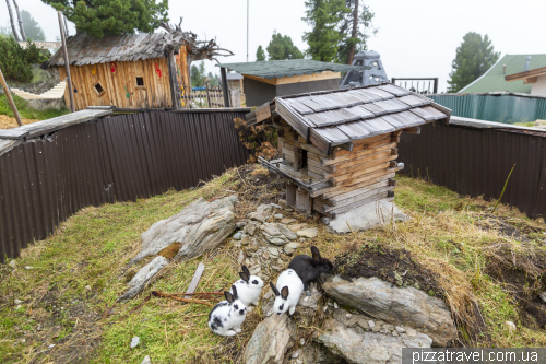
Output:
[[[155,64],[161,70],[156,72]],[[93,74],[93,71],[95,73]],[[75,109],[87,106],[114,105],[121,108],[161,108],[171,107],[168,66],[166,58],[146,59],[134,62],[116,62],[116,72],[111,64],[70,66],[74,93]],[[64,80],[64,67],[59,67],[61,80]],[[136,86],[136,77],[144,78],[144,86]],[[98,95],[95,84],[100,83],[104,93]],[[127,87],[127,91],[126,91]],[[129,97],[127,95],[129,94]],[[70,105],[68,89],[64,101]]]

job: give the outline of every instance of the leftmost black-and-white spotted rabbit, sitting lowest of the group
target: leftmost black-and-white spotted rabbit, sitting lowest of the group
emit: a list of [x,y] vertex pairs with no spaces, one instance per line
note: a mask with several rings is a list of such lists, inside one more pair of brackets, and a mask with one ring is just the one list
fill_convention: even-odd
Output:
[[226,301],[218,303],[209,314],[209,328],[212,332],[233,337],[241,331],[240,326],[247,318],[247,307],[237,296],[237,289],[232,285],[232,293],[224,292]]

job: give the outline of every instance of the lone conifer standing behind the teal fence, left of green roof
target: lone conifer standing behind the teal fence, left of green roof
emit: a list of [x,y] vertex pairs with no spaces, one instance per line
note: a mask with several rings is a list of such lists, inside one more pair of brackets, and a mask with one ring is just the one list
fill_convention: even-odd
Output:
[[448,92],[459,92],[479,78],[499,60],[499,55],[495,51],[487,34],[482,38],[480,34],[466,33],[451,63]]

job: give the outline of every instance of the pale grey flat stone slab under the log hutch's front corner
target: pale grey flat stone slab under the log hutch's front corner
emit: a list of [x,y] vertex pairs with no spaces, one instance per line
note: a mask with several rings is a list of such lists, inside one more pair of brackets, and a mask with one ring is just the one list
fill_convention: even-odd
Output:
[[[394,221],[396,222],[408,219],[393,202],[379,201],[336,215],[335,219],[330,221],[328,227],[335,233],[351,233],[351,228],[354,232],[373,228],[382,224],[388,225],[391,222],[393,213]],[[351,228],[347,223],[351,225]]]

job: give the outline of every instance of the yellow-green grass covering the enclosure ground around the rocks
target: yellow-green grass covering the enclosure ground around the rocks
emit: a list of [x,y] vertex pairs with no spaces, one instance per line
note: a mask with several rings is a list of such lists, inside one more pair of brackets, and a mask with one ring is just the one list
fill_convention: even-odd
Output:
[[[40,354],[38,362],[57,363],[75,355],[73,360],[82,356],[83,362],[140,363],[150,355],[154,363],[198,360],[202,363],[233,363],[228,356],[215,361],[207,355],[229,345],[242,351],[253,327],[261,320],[259,310],[249,316],[242,334],[232,341],[209,331],[209,306],[152,297],[140,310],[132,312],[151,290],[186,291],[199,262],[203,262],[206,269],[198,291],[226,289],[237,279],[238,271],[233,259],[238,250],[229,243],[201,258],[169,266],[142,294],[116,305],[114,313],[105,319],[95,319],[127,290],[126,283],[132,274],[150,261],[151,258],[136,267],[126,266],[139,251],[140,236],[144,231],[199,197],[211,198],[227,195],[226,190],[236,190],[234,184],[237,179],[237,174],[230,171],[194,190],[169,190],[135,202],[86,208],[62,223],[56,234],[24,249],[22,257],[15,260],[19,267],[15,272],[1,266],[0,362],[26,363],[49,344],[56,344],[50,352]],[[264,193],[264,189],[259,192]],[[256,190],[252,193],[256,195]],[[238,219],[252,208],[248,195],[239,193]],[[486,253],[492,244],[511,244],[514,248],[519,245],[495,230],[478,226],[488,221],[488,212],[484,209],[490,208],[492,202],[460,198],[443,187],[399,177],[396,204],[411,215],[410,221],[349,235],[332,235],[320,225],[319,238],[312,244],[323,256],[331,258],[346,251],[355,240],[407,249],[425,268],[440,274],[440,284],[449,295],[447,301],[455,316],[466,317],[465,300],[468,297],[479,303],[487,333],[492,340],[490,344],[546,345],[545,331],[523,326],[510,292],[483,272],[487,265]],[[514,223],[546,228],[544,222],[530,220],[505,206],[500,207],[498,215]],[[298,219],[301,221],[302,218]],[[544,243],[536,244],[544,246]],[[307,251],[298,251],[302,253]],[[26,270],[25,266],[34,268]],[[91,286],[91,291],[86,286]],[[23,301],[19,309],[13,304],[15,298]],[[38,301],[29,313],[31,303]],[[76,309],[94,316],[74,314]],[[515,322],[518,331],[510,332],[505,325],[507,320]],[[468,336],[465,330],[460,327],[462,337]],[[141,344],[130,349],[130,341],[135,336],[140,337]],[[27,339],[26,343],[21,343],[23,338]],[[87,347],[93,340],[95,347]]]

